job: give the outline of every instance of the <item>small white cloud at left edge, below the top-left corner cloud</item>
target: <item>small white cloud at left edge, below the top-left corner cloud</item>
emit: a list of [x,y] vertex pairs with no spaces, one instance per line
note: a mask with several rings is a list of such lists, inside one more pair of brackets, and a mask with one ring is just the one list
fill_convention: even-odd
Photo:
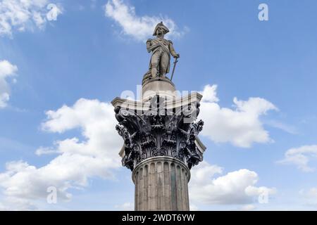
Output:
[[12,65],[7,60],[0,61],[0,108],[5,108],[10,99],[10,88],[8,77],[13,77],[18,71],[16,65]]

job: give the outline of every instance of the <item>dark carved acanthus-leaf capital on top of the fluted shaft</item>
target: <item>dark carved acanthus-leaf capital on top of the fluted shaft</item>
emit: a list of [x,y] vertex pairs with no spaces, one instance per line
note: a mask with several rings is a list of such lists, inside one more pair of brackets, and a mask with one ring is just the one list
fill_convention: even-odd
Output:
[[[152,98],[148,111],[137,114],[133,110],[115,108],[118,134],[125,143],[123,165],[133,170],[142,160],[155,156],[170,156],[182,160],[189,169],[202,161],[202,153],[195,143],[204,122],[185,122],[199,113],[199,103],[191,103],[171,115],[161,113],[163,99]],[[165,110],[166,112],[166,110]],[[197,116],[197,115],[195,115]],[[194,117],[195,119],[195,117]]]

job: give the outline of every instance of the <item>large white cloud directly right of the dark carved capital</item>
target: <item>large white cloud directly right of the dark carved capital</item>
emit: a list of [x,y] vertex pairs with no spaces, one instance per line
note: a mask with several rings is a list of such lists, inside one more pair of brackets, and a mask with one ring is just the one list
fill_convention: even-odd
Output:
[[233,99],[235,109],[221,108],[217,103],[217,86],[205,86],[202,91],[200,117],[204,120],[202,135],[212,141],[230,142],[234,146],[249,148],[252,143],[272,141],[263,128],[261,115],[269,110],[278,110],[273,103],[263,98],[249,98],[247,101]]

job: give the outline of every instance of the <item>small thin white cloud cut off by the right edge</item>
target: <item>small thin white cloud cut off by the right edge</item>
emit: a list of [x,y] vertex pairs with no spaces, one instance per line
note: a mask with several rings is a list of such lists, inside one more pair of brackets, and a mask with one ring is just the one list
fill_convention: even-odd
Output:
[[317,145],[316,146],[302,146],[299,148],[290,148],[285,152],[285,158],[279,160],[279,164],[296,165],[298,169],[303,172],[313,172],[314,167],[309,167],[309,160],[317,158]]

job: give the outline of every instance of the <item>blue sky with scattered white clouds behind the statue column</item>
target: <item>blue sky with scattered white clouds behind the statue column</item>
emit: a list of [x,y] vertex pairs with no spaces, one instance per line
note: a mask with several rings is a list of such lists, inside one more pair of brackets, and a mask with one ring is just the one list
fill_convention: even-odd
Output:
[[[268,21],[258,18],[261,3]],[[192,209],[316,210],[316,7],[0,0],[0,209],[132,208],[109,102],[137,91],[149,64],[144,41],[163,20],[180,53],[177,89],[210,97]],[[57,204],[46,203],[48,186]]]

